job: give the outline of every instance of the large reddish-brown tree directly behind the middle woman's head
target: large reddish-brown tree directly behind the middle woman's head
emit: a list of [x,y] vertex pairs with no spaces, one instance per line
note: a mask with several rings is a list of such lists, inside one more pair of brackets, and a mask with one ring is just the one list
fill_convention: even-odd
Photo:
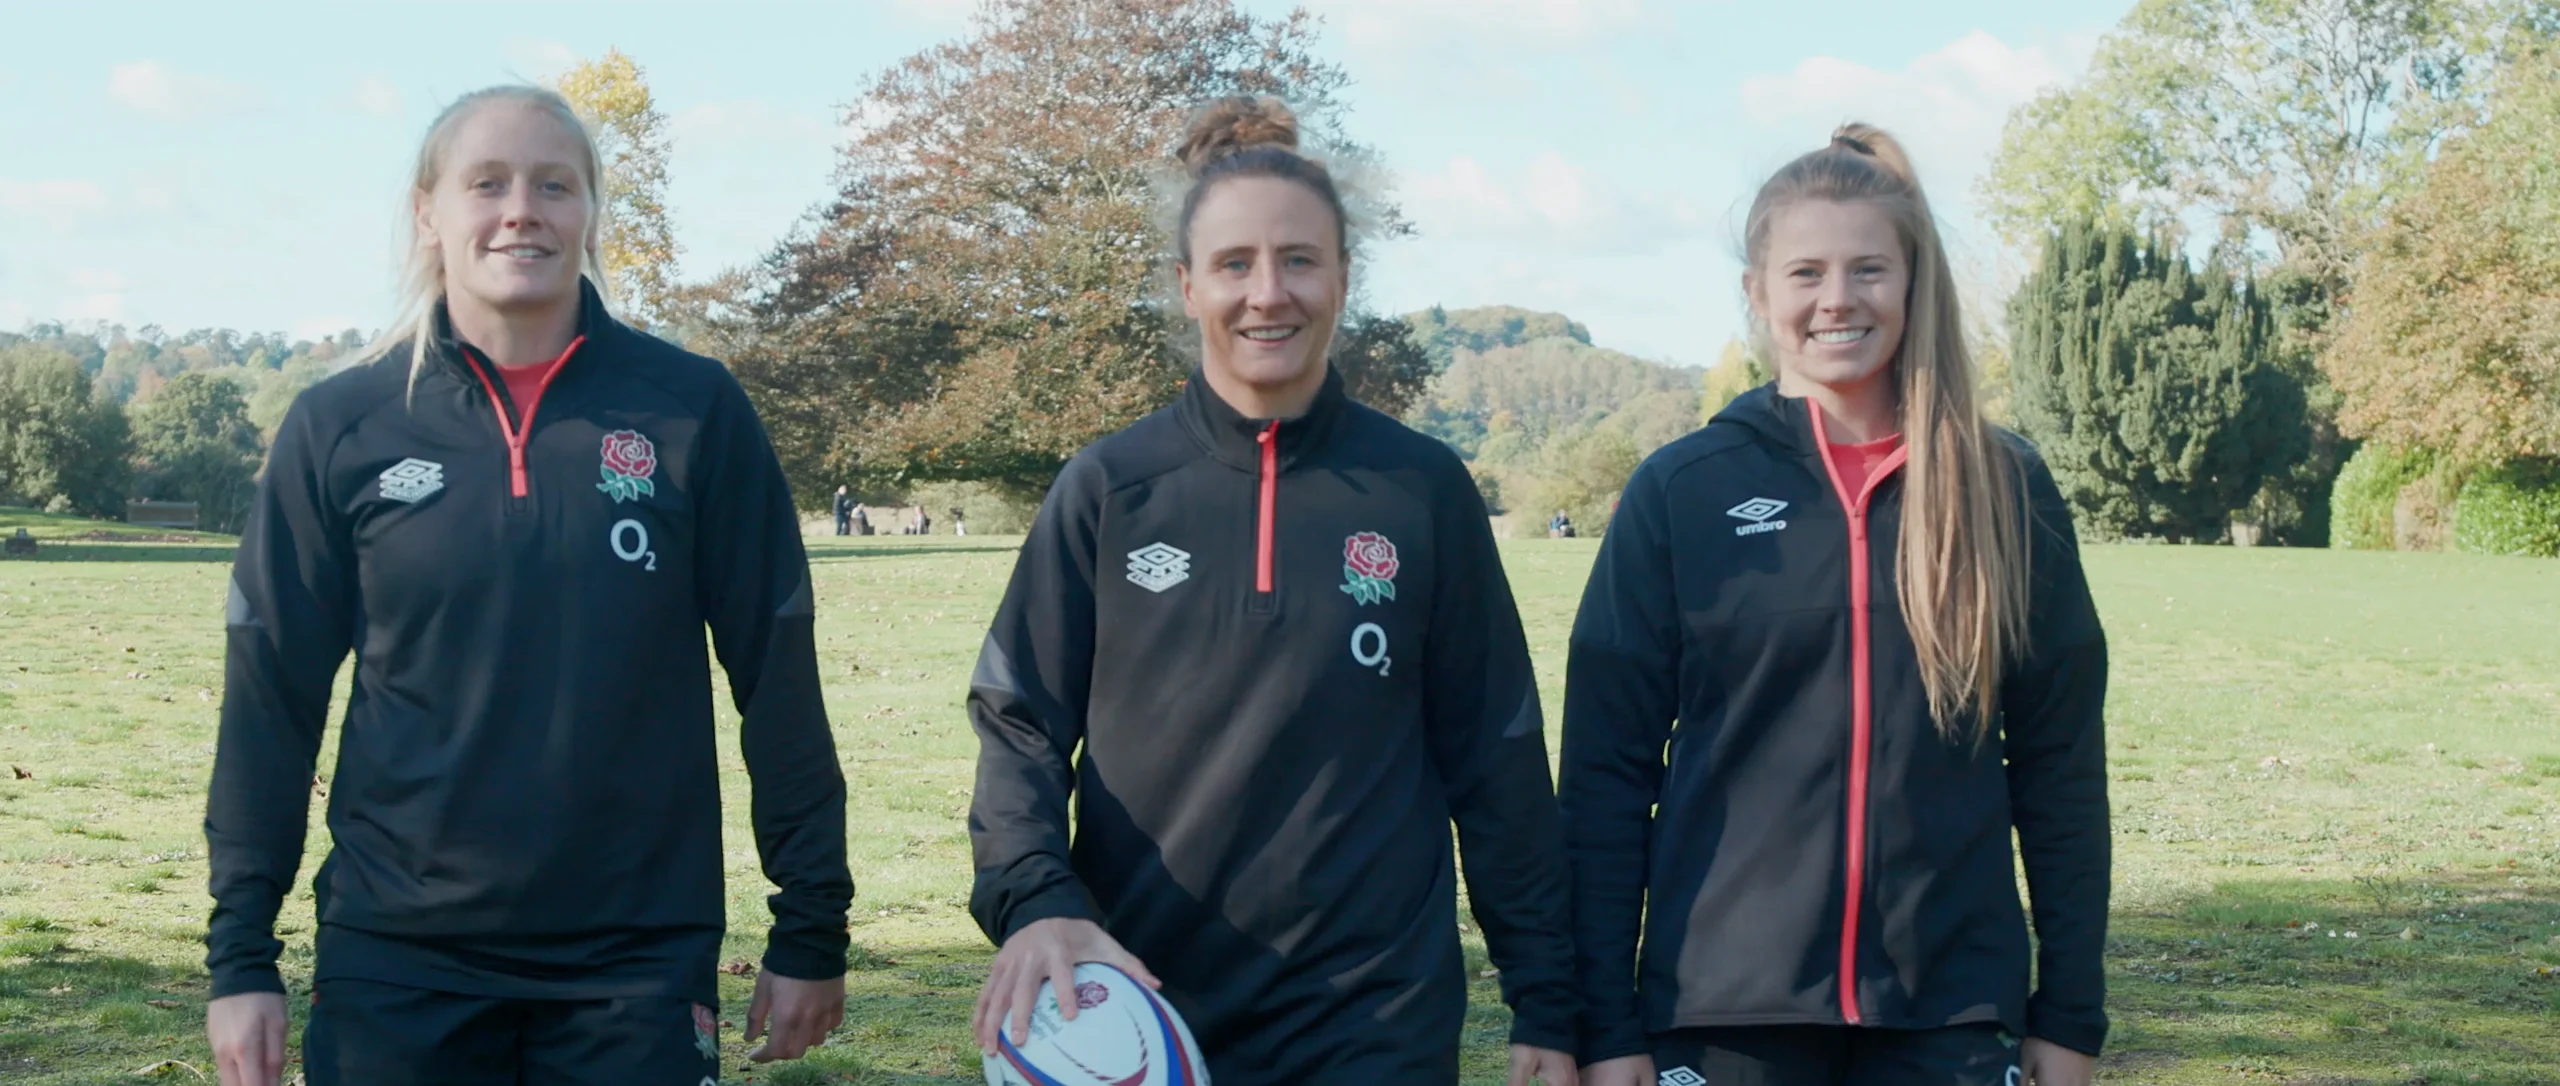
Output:
[[[732,359],[799,474],[1042,487],[1180,384],[1172,149],[1219,95],[1298,110],[1354,251],[1405,233],[1341,138],[1316,23],[1231,0],[993,0],[850,108],[842,192],[758,272]],[[1359,341],[1362,318],[1344,328]],[[768,415],[768,417],[771,417]],[[783,433],[786,430],[786,433]],[[827,487],[832,489],[832,484]]]

